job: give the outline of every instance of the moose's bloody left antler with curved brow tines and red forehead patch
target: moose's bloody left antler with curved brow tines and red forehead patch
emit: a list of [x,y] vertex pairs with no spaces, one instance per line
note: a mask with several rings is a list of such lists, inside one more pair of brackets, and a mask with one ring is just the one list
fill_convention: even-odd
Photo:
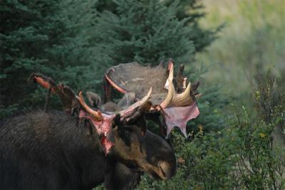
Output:
[[[77,108],[76,110],[79,112],[79,119],[87,118],[90,120],[90,122],[93,123],[93,126],[96,128],[98,134],[103,135],[102,144],[106,153],[108,153],[110,147],[113,146],[113,142],[108,139],[108,134],[111,130],[111,125],[115,115],[120,115],[120,120],[125,123],[133,120],[139,120],[139,127],[141,127],[142,134],[144,134],[146,131],[145,121],[140,116],[143,113],[143,107],[145,107],[145,104],[147,104],[148,100],[150,99],[152,88],[150,88],[147,95],[142,97],[141,100],[138,100],[138,102],[133,103],[117,113],[93,110],[84,101],[82,92],[80,92],[77,96],[68,86],[63,84],[57,85],[52,78],[48,78],[45,75],[32,74],[29,80],[33,80],[35,83],[43,86],[43,88],[48,88],[50,92],[57,94],[61,98],[61,102],[63,102],[64,110],[68,114],[73,113],[75,108]],[[82,109],[79,110],[79,107]],[[147,110],[149,110],[149,108],[147,108]]]

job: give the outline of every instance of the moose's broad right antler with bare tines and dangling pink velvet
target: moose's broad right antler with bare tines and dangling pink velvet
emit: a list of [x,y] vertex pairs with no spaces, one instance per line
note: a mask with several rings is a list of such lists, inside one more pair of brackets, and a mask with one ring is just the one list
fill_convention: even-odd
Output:
[[177,126],[187,136],[186,124],[188,120],[199,115],[196,98],[201,94],[196,92],[199,83],[192,85],[188,82],[186,87],[187,78],[184,77],[183,71],[184,65],[180,65],[180,71],[175,77],[172,59],[168,61],[166,72],[162,64],[150,68],[138,63],[125,63],[109,68],[105,79],[119,92],[133,92],[138,97],[142,97],[145,89],[152,86],[151,112],[157,110],[163,115],[167,134],[172,127]]

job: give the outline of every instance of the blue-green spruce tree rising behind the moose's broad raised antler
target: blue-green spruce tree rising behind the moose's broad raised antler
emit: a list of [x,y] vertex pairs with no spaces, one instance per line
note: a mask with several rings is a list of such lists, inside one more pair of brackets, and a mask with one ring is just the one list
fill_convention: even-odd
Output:
[[[94,28],[89,31],[90,44],[95,44],[95,63],[98,73],[118,63],[138,61],[157,65],[160,60],[173,58],[176,66],[186,65],[190,81],[202,80],[207,70],[195,67],[195,53],[214,39],[215,31],[199,28],[197,20],[200,6],[191,1],[190,12],[184,11],[180,1],[113,1],[115,11],[107,10],[95,17]],[[186,1],[185,1],[186,2]],[[193,13],[191,14],[191,11]],[[180,15],[180,17],[178,17]],[[205,37],[197,36],[202,33]],[[207,41],[207,43],[205,43]],[[100,65],[98,65],[100,63]],[[101,75],[98,75],[101,78]],[[200,117],[190,122],[192,128],[203,125],[206,130],[222,127],[219,110],[227,104],[217,86],[201,87],[204,98],[199,101]],[[191,128],[191,127],[190,127]]]

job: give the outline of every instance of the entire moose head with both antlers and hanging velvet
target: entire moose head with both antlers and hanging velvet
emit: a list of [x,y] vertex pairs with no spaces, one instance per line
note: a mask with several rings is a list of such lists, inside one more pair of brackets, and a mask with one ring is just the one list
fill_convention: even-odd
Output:
[[[108,161],[120,162],[135,172],[145,171],[155,179],[167,179],[175,174],[175,154],[170,144],[147,130],[145,118],[158,121],[158,112],[162,116],[160,127],[166,126],[167,134],[177,126],[187,136],[186,124],[199,115],[196,99],[201,94],[197,93],[199,83],[187,84],[183,70],[184,65],[180,65],[175,75],[172,60],[166,68],[163,64],[150,68],[138,63],[114,66],[105,73],[104,101],[95,93],[86,93],[91,107],[82,92],[75,95],[71,88],[43,75],[32,75],[31,79],[59,95],[66,113],[95,129]],[[107,102],[111,87],[124,94],[118,104]]]

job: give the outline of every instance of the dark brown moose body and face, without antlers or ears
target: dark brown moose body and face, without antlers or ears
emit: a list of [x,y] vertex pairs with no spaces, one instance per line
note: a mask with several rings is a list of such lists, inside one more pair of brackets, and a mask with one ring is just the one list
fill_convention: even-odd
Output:
[[64,112],[31,112],[0,128],[0,189],[132,189],[142,171],[157,179],[175,173],[164,139],[137,126],[113,123],[105,154],[95,128]]

